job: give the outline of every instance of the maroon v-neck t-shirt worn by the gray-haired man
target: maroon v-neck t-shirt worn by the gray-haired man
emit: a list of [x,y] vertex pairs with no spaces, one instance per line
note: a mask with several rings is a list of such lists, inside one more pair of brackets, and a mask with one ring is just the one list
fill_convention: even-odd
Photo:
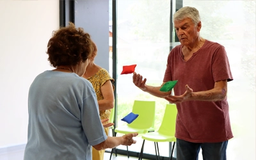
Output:
[[[211,90],[216,81],[233,77],[225,48],[205,40],[205,44],[193,56],[184,61],[182,45],[170,52],[164,82],[178,80],[173,88],[175,95],[182,95],[188,86],[193,92]],[[191,100],[177,104],[176,138],[195,143],[215,143],[233,137],[227,98],[210,102]]]

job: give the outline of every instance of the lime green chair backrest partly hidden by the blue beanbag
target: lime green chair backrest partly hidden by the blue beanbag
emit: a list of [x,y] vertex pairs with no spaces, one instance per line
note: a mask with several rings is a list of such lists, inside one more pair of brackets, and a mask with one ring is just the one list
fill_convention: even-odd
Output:
[[155,112],[155,101],[134,100],[132,113],[138,114],[139,116],[131,124],[127,125],[136,129],[154,128]]

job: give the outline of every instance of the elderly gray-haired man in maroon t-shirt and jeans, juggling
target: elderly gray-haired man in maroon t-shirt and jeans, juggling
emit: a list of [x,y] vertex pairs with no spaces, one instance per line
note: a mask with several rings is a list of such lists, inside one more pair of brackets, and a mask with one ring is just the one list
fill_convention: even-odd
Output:
[[227,102],[227,82],[233,77],[225,47],[200,36],[202,22],[198,10],[180,8],[173,15],[180,45],[168,55],[163,86],[176,81],[172,91],[148,86],[147,79],[134,72],[133,83],[141,90],[177,104],[177,159],[224,160],[228,140],[233,137]]

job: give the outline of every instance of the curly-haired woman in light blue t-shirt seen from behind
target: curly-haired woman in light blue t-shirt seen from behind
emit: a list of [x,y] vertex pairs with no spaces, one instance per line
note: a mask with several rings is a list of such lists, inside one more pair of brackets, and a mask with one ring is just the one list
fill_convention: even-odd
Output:
[[47,54],[54,70],[36,76],[28,95],[28,143],[24,159],[92,159],[97,150],[136,143],[126,134],[109,137],[99,117],[92,84],[83,74],[92,40],[70,23],[54,31]]

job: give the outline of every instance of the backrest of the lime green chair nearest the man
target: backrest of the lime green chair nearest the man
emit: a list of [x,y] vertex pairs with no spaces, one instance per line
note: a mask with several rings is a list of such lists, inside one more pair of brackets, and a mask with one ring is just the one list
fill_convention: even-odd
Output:
[[166,104],[163,120],[158,132],[168,136],[174,136],[177,117],[176,104]]

